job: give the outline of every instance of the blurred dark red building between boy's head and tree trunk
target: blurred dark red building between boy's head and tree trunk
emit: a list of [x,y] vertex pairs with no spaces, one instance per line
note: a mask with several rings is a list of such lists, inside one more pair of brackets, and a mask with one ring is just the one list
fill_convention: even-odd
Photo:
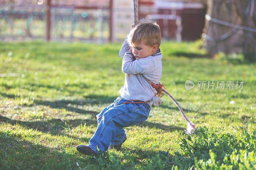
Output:
[[161,28],[163,38],[178,41],[194,41],[201,38],[206,13],[204,4],[182,0],[139,2],[139,18],[147,16],[155,19]]

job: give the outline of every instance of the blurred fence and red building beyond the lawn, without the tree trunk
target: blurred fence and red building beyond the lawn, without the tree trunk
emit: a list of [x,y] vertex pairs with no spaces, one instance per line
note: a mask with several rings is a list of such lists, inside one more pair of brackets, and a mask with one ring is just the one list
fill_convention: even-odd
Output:
[[[201,38],[200,2],[139,0],[139,18],[156,20],[164,39]],[[123,41],[133,24],[132,0],[1,0],[1,40]]]

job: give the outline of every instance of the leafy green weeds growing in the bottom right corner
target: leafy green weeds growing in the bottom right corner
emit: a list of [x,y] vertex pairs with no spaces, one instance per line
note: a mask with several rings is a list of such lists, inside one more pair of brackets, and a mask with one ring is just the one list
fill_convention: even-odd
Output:
[[183,138],[174,169],[256,169],[256,131],[249,133],[247,123],[234,128],[229,134],[203,127]]

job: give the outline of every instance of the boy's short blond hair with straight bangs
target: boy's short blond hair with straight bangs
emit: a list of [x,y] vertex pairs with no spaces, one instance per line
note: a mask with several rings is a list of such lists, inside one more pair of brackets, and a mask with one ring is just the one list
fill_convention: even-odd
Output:
[[130,46],[134,43],[143,43],[150,47],[161,44],[161,31],[156,21],[141,19],[140,24],[136,25],[127,37]]

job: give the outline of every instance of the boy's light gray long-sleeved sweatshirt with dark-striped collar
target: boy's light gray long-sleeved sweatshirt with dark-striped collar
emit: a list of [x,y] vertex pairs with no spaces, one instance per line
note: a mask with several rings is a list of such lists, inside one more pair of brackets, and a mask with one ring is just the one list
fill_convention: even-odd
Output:
[[162,54],[159,53],[146,58],[136,60],[131,52],[130,46],[125,39],[119,55],[123,58],[122,71],[125,73],[124,85],[119,90],[121,97],[130,100],[152,100],[155,89],[141,74],[151,82],[158,84],[162,75]]

